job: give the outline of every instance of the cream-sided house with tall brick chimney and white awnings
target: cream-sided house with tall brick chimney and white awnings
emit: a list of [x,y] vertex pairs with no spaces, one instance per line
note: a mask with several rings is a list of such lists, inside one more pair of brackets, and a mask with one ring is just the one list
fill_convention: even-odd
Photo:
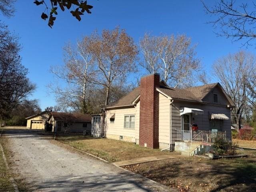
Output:
[[170,150],[175,144],[180,146],[179,141],[196,138],[212,142],[211,133],[231,140],[230,110],[234,103],[220,83],[176,89],[160,81],[159,74],[142,77],[140,83],[104,108],[101,135]]

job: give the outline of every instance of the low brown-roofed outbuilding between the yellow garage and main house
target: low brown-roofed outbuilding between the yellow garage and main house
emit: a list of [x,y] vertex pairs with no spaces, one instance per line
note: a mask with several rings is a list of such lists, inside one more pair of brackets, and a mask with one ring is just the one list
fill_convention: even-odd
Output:
[[52,132],[83,133],[86,131],[90,134],[91,121],[92,117],[89,114],[51,112],[47,123],[52,124]]

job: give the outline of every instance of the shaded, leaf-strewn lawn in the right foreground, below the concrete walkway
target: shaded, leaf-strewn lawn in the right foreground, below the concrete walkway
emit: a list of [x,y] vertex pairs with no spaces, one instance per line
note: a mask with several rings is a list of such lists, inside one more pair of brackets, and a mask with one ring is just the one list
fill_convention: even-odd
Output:
[[255,192],[256,151],[237,152],[249,157],[218,160],[176,158],[124,168],[180,191]]

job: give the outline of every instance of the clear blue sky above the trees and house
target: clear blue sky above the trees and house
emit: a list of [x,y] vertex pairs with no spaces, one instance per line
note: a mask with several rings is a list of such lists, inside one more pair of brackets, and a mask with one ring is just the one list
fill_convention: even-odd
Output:
[[[33,0],[18,0],[15,16],[7,19],[0,16],[11,31],[18,34],[22,45],[22,64],[28,68],[28,77],[36,83],[37,89],[31,96],[39,99],[40,107],[56,105],[55,98],[46,85],[53,75],[50,65],[62,64],[62,47],[66,42],[76,42],[94,30],[113,29],[120,26],[138,43],[145,32],[154,35],[186,34],[198,44],[197,56],[206,72],[211,74],[215,59],[241,49],[241,42],[216,37],[210,20],[200,0],[88,0],[92,14],[85,14],[78,22],[68,11],[58,10],[53,28],[40,18],[43,6],[36,6]],[[254,47],[249,47],[254,52]],[[130,79],[132,81],[133,79]],[[216,79],[212,79],[216,81]]]

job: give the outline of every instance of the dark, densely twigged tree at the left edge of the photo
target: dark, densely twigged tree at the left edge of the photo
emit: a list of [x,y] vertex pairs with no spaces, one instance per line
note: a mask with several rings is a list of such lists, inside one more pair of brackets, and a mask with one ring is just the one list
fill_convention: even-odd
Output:
[[17,38],[0,26],[0,119],[8,118],[18,103],[26,100],[36,86],[21,64]]

